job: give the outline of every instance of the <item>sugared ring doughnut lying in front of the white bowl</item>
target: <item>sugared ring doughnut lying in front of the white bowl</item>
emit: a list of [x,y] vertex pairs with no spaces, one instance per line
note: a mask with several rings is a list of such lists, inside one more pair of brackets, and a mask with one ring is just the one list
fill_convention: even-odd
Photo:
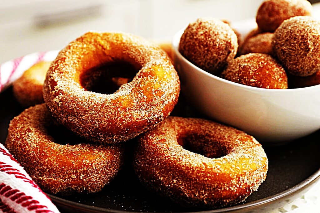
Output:
[[266,179],[260,143],[200,118],[168,117],[139,136],[133,161],[140,181],[172,201],[215,208],[244,201]]

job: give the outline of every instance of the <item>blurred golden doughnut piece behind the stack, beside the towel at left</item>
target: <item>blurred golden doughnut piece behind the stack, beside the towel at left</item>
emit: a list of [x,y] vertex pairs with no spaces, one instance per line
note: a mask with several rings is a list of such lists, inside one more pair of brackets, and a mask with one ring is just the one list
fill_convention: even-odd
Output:
[[51,62],[42,61],[31,66],[22,76],[13,82],[12,91],[23,107],[44,103],[42,87]]

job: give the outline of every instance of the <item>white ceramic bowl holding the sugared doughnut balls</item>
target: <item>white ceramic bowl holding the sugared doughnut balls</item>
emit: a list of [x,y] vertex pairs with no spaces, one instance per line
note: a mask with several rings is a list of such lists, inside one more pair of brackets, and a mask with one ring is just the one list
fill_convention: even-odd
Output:
[[[240,29],[243,34],[249,30]],[[183,31],[172,41],[174,63],[180,75],[182,95],[200,113],[243,130],[268,145],[288,142],[320,129],[320,85],[264,89],[224,80],[198,68],[180,54]]]

